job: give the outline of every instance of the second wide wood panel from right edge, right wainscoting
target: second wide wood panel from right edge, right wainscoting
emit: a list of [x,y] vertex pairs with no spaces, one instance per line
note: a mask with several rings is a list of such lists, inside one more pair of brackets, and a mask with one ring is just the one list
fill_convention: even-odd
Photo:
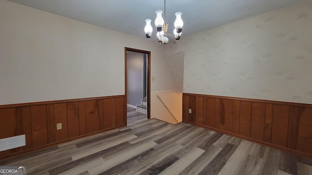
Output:
[[289,106],[273,105],[271,143],[287,147]]

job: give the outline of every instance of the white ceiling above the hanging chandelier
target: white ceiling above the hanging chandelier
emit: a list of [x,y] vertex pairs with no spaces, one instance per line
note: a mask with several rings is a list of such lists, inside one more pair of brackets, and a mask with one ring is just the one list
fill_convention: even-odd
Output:
[[[155,11],[164,9],[163,0],[9,1],[138,37],[145,37],[145,19],[155,27]],[[173,33],[178,11],[183,13],[183,37],[304,1],[309,0],[167,0],[168,32]]]

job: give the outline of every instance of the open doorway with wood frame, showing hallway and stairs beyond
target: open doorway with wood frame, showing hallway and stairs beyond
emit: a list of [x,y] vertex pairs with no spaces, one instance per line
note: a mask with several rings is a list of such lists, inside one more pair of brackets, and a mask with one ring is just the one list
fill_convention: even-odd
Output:
[[133,107],[150,119],[150,52],[125,48],[125,94],[127,111]]

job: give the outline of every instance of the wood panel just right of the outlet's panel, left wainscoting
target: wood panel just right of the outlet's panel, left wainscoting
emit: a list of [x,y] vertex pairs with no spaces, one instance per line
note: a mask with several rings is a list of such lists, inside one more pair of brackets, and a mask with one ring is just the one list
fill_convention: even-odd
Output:
[[79,132],[79,104],[78,102],[67,103],[68,139],[78,137]]

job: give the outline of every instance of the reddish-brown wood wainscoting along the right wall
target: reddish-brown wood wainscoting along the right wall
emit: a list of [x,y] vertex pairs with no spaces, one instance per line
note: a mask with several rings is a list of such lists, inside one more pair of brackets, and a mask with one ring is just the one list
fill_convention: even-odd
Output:
[[312,158],[309,104],[184,93],[183,122]]

